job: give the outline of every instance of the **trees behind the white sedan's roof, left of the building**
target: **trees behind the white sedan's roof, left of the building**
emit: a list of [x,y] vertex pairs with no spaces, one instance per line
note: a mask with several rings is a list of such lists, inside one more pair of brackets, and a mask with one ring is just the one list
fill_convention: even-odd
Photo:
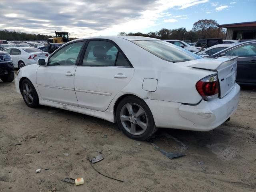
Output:
[[[151,37],[157,39],[176,39],[176,40],[184,40],[188,42],[196,42],[198,39],[204,38],[216,38],[218,35],[218,23],[216,20],[199,20],[194,23],[192,30],[186,30],[186,28],[181,27],[178,29],[166,29],[163,28],[156,32],[148,32],[148,33],[128,33],[120,32],[118,35],[133,35],[133,36],[144,36]],[[225,38],[226,31],[224,29],[220,29],[218,38]]]

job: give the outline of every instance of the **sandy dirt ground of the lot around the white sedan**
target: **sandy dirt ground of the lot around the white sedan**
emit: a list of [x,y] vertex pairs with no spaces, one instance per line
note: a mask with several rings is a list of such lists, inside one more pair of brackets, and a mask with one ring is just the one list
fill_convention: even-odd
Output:
[[[215,130],[161,129],[154,143],[186,156],[170,160],[105,120],[46,106],[28,108],[14,82],[0,82],[0,191],[7,192],[256,191],[256,91],[242,90],[230,122]],[[96,170],[124,182],[90,166],[87,156],[98,154],[104,160],[94,164]],[[35,173],[38,168],[42,171]],[[60,181],[66,177],[83,177],[85,183]]]

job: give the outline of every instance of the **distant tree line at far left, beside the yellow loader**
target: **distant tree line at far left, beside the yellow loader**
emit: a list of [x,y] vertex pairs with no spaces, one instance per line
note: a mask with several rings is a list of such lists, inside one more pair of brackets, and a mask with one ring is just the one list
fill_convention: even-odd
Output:
[[52,38],[52,36],[42,35],[42,34],[28,34],[23,32],[15,32],[8,30],[0,30],[0,39],[1,40],[47,40],[48,38]]

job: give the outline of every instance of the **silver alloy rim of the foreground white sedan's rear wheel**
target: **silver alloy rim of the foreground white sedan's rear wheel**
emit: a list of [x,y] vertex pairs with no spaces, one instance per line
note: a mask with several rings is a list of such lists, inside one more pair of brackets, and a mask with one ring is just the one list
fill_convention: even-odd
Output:
[[135,103],[127,103],[122,107],[120,120],[125,130],[133,135],[141,135],[148,128],[146,112]]

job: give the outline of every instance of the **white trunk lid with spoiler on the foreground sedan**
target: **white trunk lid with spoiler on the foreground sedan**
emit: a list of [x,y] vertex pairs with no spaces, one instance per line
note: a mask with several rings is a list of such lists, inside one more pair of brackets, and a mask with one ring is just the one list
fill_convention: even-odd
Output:
[[228,94],[236,83],[236,59],[238,56],[223,56],[217,59],[203,58],[189,67],[216,71],[220,84],[220,98]]

